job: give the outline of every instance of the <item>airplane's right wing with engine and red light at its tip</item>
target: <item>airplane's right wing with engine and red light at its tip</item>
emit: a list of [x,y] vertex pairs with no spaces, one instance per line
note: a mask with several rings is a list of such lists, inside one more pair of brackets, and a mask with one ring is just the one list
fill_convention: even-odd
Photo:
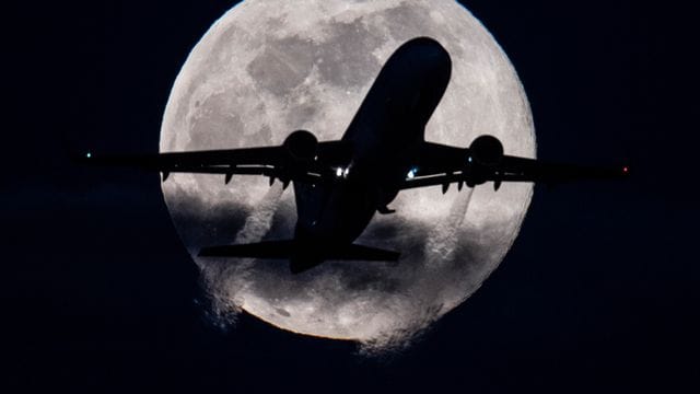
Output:
[[401,189],[442,185],[444,193],[453,183],[462,189],[464,184],[475,186],[490,181],[498,189],[503,182],[556,184],[629,175],[628,166],[584,166],[505,155],[500,141],[491,136],[477,138],[469,148],[425,142],[416,158]]

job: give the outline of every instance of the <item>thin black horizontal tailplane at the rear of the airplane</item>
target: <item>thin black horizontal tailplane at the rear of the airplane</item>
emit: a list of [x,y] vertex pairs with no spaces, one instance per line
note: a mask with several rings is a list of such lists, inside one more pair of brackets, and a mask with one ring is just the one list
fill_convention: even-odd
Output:
[[371,246],[349,244],[337,247],[318,247],[293,240],[264,241],[241,245],[202,247],[201,257],[253,257],[289,259],[292,274],[317,266],[327,259],[396,262],[400,253]]

